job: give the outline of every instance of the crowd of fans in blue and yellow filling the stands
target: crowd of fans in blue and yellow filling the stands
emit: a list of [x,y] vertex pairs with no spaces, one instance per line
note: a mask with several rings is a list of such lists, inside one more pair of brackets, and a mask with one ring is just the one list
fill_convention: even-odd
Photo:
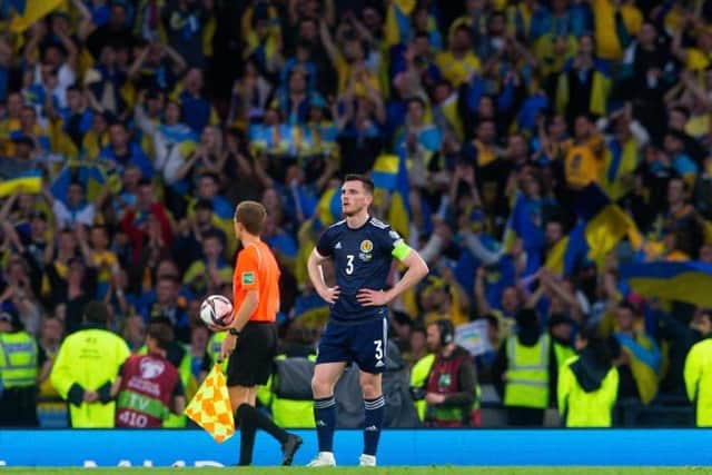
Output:
[[[42,426],[67,424],[62,400],[82,403],[52,365],[88,324],[131,352],[171,327],[189,400],[219,353],[198,314],[231,297],[245,199],[268,210],[284,352],[309,355],[328,307],[306,259],[346,174],[370,175],[374,216],[432,269],[390,309],[389,365],[421,419],[486,425],[504,405],[541,426],[572,380],[603,387],[611,367],[611,405],[657,408],[631,425],[675,423],[696,394],[704,279],[655,298],[621,269],[712,275],[711,1],[63,0],[18,28],[6,3],[0,424],[29,424],[10,372]],[[418,364],[452,339],[467,369],[434,397]],[[26,369],[13,348],[33,352]],[[310,407],[308,386],[291,393]]]

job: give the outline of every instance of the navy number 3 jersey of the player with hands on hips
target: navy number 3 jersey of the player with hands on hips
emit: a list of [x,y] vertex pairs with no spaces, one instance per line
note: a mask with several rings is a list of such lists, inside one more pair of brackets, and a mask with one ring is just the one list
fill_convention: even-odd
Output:
[[334,260],[338,299],[332,305],[332,318],[359,321],[383,318],[386,307],[365,307],[356,295],[360,289],[383,290],[393,264],[393,251],[403,238],[385,222],[369,218],[364,226],[352,229],[346,220],[329,227],[316,245],[323,257]]

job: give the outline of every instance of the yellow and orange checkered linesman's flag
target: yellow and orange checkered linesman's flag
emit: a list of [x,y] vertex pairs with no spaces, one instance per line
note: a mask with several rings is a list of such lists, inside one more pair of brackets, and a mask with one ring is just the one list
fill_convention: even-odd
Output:
[[205,378],[188,404],[186,415],[206,429],[218,444],[233,437],[235,419],[220,365],[215,365]]

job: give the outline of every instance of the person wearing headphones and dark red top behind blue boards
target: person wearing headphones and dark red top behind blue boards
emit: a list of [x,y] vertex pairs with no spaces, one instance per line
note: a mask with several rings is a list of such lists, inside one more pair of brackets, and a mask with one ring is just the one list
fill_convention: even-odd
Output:
[[411,376],[418,417],[431,427],[477,425],[475,365],[472,355],[455,345],[453,323],[441,319],[428,325],[427,346],[433,354],[418,360]]

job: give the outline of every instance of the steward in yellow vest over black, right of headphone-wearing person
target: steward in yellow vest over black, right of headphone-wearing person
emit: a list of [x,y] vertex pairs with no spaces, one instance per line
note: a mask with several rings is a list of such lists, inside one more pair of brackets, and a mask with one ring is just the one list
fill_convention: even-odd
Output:
[[555,394],[556,355],[533,309],[520,310],[516,324],[516,335],[497,353],[492,380],[507,409],[507,425],[542,426],[544,410]]

